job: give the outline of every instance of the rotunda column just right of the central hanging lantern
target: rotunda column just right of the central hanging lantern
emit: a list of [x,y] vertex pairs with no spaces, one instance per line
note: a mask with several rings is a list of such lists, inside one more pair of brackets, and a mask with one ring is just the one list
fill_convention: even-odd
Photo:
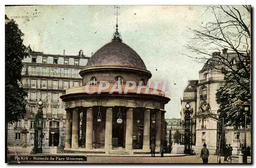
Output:
[[125,151],[133,149],[133,109],[126,112]]

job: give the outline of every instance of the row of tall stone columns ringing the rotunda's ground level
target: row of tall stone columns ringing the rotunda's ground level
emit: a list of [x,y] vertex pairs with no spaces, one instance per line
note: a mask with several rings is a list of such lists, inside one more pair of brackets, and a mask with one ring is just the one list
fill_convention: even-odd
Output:
[[[84,108],[86,109],[86,108]],[[79,142],[79,125],[80,125],[80,110],[78,109],[67,109],[66,114],[66,150],[78,149]],[[93,109],[86,109],[86,144],[85,149],[91,150],[93,142]],[[106,108],[105,118],[105,141],[104,149],[106,153],[112,149],[112,107]],[[150,151],[150,125],[151,125],[151,111],[150,109],[144,110],[144,125],[143,125],[143,151]],[[164,119],[163,112],[156,112],[156,149],[160,148],[161,145],[161,127]],[[127,108],[126,110],[126,131],[125,131],[125,151],[131,151],[133,147],[133,108]],[[84,136],[84,135],[83,135]]]

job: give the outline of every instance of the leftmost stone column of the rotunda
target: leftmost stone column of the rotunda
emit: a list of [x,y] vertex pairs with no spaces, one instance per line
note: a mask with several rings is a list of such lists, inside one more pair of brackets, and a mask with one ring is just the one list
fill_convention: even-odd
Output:
[[70,111],[66,111],[66,139],[65,148],[71,148],[72,120]]

